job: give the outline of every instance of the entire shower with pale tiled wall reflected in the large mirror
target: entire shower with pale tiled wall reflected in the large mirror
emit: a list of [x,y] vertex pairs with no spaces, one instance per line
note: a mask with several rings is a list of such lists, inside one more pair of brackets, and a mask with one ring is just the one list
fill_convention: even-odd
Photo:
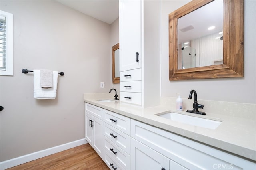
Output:
[[179,69],[223,64],[222,31],[181,42],[179,55]]

